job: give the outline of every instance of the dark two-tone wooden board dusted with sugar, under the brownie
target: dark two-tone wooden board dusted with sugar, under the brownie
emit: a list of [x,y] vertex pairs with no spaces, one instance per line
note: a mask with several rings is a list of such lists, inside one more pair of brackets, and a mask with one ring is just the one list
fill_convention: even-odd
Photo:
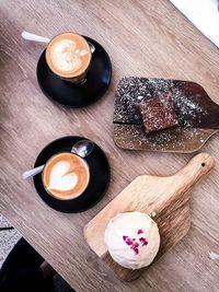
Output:
[[[138,104],[171,94],[178,127],[147,136]],[[130,150],[192,153],[219,131],[219,105],[197,83],[180,80],[123,78],[118,82],[114,110],[114,141]]]

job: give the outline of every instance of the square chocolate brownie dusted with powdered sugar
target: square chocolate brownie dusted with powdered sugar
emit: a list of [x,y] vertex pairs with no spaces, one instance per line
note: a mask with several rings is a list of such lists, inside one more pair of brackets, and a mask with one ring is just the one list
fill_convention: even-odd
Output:
[[139,104],[139,112],[146,133],[177,126],[174,103],[171,94],[162,95]]

